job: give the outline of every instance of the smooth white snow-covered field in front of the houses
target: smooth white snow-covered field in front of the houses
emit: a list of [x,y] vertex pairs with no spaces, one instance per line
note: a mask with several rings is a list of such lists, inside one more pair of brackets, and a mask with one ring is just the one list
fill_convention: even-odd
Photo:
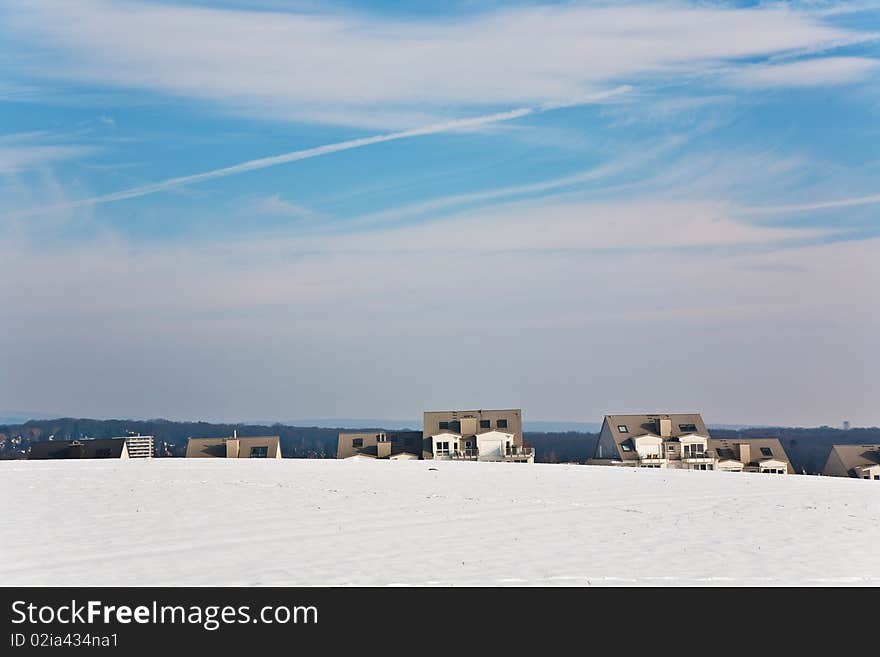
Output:
[[880,485],[433,461],[0,462],[0,584],[880,585]]

